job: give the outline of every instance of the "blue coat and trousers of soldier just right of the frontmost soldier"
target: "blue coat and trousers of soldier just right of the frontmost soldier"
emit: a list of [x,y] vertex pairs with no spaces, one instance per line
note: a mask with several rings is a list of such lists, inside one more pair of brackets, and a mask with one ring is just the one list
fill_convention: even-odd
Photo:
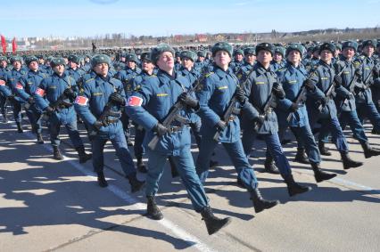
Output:
[[[258,186],[258,181],[254,175],[252,166],[244,155],[242,141],[240,139],[239,118],[233,115],[229,118],[227,127],[220,132],[218,142],[213,139],[218,127],[217,124],[223,118],[224,111],[227,110],[229,102],[235,93],[238,85],[237,77],[231,69],[224,71],[214,66],[212,71],[202,79],[202,86],[196,95],[199,99],[199,116],[202,118],[202,143],[200,153],[196,161],[197,174],[204,183],[209,174],[209,162],[212,151],[221,142],[227,150],[228,156],[232,160],[239,179],[244,183],[248,191],[253,191]],[[241,105],[236,102],[236,109]]]

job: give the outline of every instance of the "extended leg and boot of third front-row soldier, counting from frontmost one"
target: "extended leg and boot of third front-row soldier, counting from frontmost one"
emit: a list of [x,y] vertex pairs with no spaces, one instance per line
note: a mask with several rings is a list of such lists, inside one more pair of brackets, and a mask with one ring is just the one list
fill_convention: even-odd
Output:
[[301,184],[294,182],[292,170],[281,147],[278,134],[264,134],[264,138],[265,142],[267,142],[267,150],[270,151],[271,156],[275,159],[280,174],[285,180],[289,195],[293,196],[298,193],[310,191],[311,188],[309,186],[302,186]]

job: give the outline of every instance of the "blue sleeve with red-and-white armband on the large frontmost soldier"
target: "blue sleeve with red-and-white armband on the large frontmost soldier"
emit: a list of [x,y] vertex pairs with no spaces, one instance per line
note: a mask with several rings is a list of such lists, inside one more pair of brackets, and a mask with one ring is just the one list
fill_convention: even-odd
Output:
[[149,103],[153,95],[152,86],[144,83],[141,89],[133,92],[128,97],[125,112],[139,126],[143,126],[145,130],[151,131],[158,124],[158,120],[153,117],[144,106]]

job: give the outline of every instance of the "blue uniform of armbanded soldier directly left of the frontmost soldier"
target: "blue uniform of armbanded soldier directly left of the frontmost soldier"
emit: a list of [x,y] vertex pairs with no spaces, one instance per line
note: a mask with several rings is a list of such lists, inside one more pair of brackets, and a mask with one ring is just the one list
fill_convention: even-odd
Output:
[[[100,77],[96,75],[87,79],[84,83],[83,92],[77,97],[74,106],[78,115],[87,126],[90,126],[91,130],[94,129],[92,125],[100,117],[110,95],[114,92],[119,92],[125,98],[125,92],[120,80],[110,76]],[[133,159],[122,131],[120,118],[120,106],[113,105],[110,115],[106,118],[107,125],[102,126],[94,139],[92,139],[93,167],[97,173],[103,172],[103,149],[108,140],[111,140],[116,150],[116,155],[120,159],[124,173],[127,176],[136,173]]]

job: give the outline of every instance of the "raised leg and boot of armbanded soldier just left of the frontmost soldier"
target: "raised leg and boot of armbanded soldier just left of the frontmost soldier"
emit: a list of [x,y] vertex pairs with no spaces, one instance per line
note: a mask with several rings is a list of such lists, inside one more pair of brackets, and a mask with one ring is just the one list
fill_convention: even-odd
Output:
[[112,145],[115,148],[116,155],[120,160],[121,168],[128,178],[131,191],[139,191],[143,187],[144,182],[138,181],[136,178],[136,168],[133,163],[132,156],[129,153],[127,141],[123,134],[121,123],[118,122],[117,124],[111,124],[109,127],[111,128],[112,132]]

